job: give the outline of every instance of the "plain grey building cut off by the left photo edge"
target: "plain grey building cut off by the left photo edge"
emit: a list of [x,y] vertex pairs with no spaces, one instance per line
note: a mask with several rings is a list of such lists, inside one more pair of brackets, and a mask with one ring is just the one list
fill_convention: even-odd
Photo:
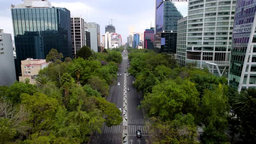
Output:
[[10,86],[16,80],[11,34],[0,29],[0,86]]

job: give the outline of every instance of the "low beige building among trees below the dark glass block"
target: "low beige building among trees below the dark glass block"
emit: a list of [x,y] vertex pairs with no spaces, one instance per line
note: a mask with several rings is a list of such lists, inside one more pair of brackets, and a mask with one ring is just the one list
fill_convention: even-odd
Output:
[[25,82],[26,79],[30,80],[30,84],[36,83],[36,76],[39,70],[47,67],[49,65],[45,59],[30,59],[21,61],[21,72],[22,76],[19,77],[20,82]]

